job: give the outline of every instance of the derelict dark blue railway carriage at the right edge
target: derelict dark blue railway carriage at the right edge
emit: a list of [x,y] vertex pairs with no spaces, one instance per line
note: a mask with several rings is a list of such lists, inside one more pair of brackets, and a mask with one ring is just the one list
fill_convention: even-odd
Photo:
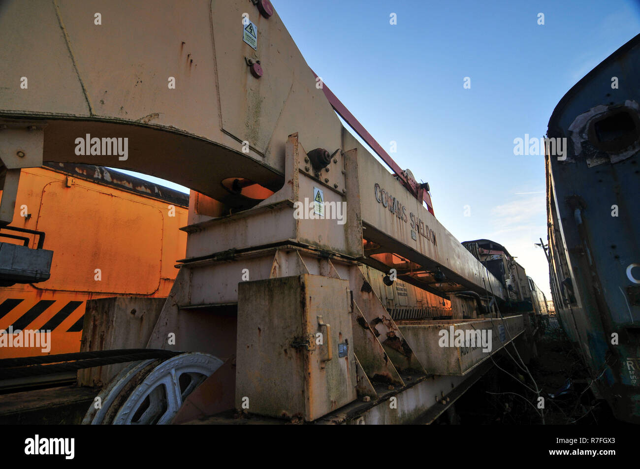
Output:
[[640,35],[564,95],[548,137],[549,269],[556,314],[596,392],[640,422]]

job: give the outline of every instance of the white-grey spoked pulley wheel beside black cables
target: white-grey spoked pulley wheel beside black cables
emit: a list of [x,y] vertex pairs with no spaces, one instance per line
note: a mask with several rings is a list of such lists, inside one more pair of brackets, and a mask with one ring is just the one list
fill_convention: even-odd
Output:
[[92,404],[83,424],[169,424],[184,399],[222,364],[198,352],[131,363],[100,392],[101,408]]

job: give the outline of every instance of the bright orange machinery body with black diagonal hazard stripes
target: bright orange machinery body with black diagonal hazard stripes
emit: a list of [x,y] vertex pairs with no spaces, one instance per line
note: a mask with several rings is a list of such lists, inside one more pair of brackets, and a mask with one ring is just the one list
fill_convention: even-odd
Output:
[[[0,330],[50,330],[49,354],[80,350],[88,299],[164,298],[185,256],[189,196],[124,173],[50,163],[20,173],[15,214],[0,241],[19,234],[53,250],[51,277],[0,288]],[[0,347],[0,358],[44,354],[40,347]]]

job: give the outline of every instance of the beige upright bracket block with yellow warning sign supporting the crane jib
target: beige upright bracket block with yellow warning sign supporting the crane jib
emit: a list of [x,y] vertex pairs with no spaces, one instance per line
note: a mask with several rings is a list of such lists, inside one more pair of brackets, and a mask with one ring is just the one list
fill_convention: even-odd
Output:
[[346,206],[346,223],[343,224],[332,218],[296,216],[294,203],[308,205],[309,201],[314,200],[314,187],[318,186],[316,180],[300,171],[305,164],[305,157],[307,153],[300,144],[298,134],[292,134],[287,138],[287,182],[282,189],[252,209],[184,228],[189,234],[187,260],[213,256],[227,250],[241,251],[291,241],[353,258],[362,256],[362,224],[358,216],[358,192],[355,190],[358,186],[355,155],[346,152],[343,157],[345,165],[351,168],[344,177],[344,185],[348,188],[346,194],[324,189],[326,203],[332,203],[335,207],[340,204],[340,209]]

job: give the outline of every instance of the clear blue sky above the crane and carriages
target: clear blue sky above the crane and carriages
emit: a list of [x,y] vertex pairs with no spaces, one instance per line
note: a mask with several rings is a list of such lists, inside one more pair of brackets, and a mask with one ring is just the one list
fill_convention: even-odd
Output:
[[506,246],[551,299],[534,246],[547,239],[544,157],[514,155],[513,140],[544,136],[564,93],[640,33],[638,2],[271,3],[324,83],[429,182],[436,218],[460,241]]

